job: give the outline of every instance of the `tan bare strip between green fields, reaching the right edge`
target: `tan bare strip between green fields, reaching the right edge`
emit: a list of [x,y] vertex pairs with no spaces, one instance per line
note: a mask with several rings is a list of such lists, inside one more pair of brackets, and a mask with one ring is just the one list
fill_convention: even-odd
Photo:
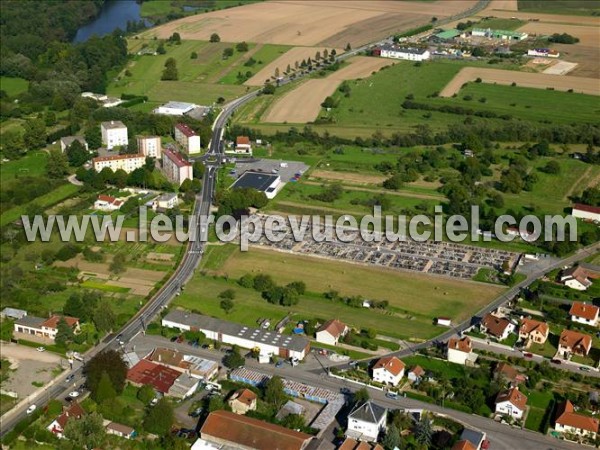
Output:
[[452,97],[460,91],[463,84],[481,78],[484,83],[497,83],[510,85],[513,82],[518,86],[546,89],[552,87],[559,91],[568,91],[582,94],[600,95],[600,83],[596,78],[563,77],[543,73],[526,73],[512,70],[482,69],[479,67],[465,67],[448,83],[440,97]]

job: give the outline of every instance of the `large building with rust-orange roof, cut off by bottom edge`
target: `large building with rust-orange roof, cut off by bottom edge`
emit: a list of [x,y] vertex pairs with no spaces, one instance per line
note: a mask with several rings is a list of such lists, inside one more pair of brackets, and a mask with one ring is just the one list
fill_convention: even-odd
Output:
[[313,437],[230,411],[211,412],[200,438],[220,447],[256,450],[304,450]]

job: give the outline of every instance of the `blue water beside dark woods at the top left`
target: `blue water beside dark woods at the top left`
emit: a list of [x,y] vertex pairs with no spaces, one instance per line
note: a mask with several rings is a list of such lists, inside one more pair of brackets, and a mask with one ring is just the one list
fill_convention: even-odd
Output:
[[112,33],[117,28],[125,30],[127,21],[138,22],[141,5],[135,0],[109,0],[107,1],[98,17],[93,22],[82,26],[77,30],[73,42],[85,42],[93,35],[104,36]]

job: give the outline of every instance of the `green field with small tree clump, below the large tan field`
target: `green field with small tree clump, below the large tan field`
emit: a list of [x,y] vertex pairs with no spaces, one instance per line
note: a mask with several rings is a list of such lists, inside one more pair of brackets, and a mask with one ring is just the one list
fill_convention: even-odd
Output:
[[[223,59],[226,48],[234,48],[234,54]],[[126,68],[131,76],[122,73],[117,81],[109,84],[107,93],[146,95],[157,102],[179,100],[210,105],[219,97],[231,100],[246,92],[242,86],[219,84],[244,55],[235,50],[234,44],[183,41],[181,45],[167,45],[166,50],[165,55],[135,56]],[[190,58],[192,52],[197,53],[197,59]],[[178,81],[160,79],[168,58],[177,61]]]

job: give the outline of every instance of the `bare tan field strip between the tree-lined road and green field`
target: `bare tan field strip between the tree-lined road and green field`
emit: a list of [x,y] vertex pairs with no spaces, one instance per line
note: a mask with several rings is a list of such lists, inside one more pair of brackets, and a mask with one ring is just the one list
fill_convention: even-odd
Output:
[[335,92],[344,80],[354,80],[370,76],[394,60],[356,56],[348,60],[350,64],[333,72],[327,78],[308,80],[275,102],[263,118],[263,122],[306,123],[317,118],[325,97]]

